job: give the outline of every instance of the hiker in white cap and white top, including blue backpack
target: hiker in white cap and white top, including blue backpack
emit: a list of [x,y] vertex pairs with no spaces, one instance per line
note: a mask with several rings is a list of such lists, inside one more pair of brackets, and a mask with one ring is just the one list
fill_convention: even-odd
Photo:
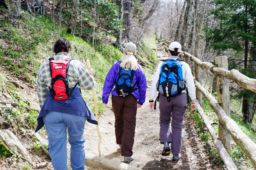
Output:
[[[162,155],[169,156],[170,152],[172,152],[172,161],[179,161],[181,158],[182,122],[184,113],[188,108],[185,91],[186,85],[192,100],[191,111],[196,109],[196,92],[193,76],[189,65],[179,58],[180,52],[183,51],[181,51],[179,42],[174,41],[169,45],[169,58],[161,62],[157,67],[149,100],[151,110],[156,109],[156,101],[159,100],[159,136],[160,143],[164,144]],[[154,105],[153,99],[157,91],[159,93]]]

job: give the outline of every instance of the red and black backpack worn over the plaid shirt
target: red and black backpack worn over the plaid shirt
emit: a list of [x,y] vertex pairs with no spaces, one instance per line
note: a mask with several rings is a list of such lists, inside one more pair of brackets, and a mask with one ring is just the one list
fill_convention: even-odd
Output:
[[50,61],[50,72],[51,72],[51,85],[52,88],[49,87],[51,91],[51,96],[53,96],[53,99],[55,100],[65,100],[68,99],[73,92],[73,90],[76,88],[76,85],[70,89],[68,86],[68,67],[71,59],[65,59],[62,61],[54,60],[54,58],[49,58]]

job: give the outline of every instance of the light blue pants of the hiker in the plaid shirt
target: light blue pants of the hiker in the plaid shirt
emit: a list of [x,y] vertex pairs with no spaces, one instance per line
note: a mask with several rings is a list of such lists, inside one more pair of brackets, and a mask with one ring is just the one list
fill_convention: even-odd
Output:
[[54,170],[67,170],[67,128],[71,145],[70,162],[73,170],[84,170],[84,124],[86,116],[46,111],[44,124]]

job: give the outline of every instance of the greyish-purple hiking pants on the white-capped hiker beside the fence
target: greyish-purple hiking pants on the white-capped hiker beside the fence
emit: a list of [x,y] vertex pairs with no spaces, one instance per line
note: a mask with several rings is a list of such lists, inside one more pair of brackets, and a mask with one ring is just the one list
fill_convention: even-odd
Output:
[[167,101],[167,97],[162,95],[159,97],[160,143],[172,142],[172,154],[180,153],[182,122],[187,108],[186,93],[181,93],[175,99],[172,97],[170,102]]

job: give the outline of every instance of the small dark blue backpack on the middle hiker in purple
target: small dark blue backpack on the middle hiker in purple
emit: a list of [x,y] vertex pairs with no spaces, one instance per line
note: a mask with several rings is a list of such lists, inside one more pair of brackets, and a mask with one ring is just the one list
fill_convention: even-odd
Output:
[[[121,63],[121,59],[118,60]],[[119,67],[119,74],[116,82],[116,93],[119,96],[127,97],[129,96],[132,92],[138,89],[134,88],[135,85],[138,83],[136,81],[135,85],[132,85],[132,80],[134,76],[134,70],[131,70],[131,68],[126,69],[125,67]]]

